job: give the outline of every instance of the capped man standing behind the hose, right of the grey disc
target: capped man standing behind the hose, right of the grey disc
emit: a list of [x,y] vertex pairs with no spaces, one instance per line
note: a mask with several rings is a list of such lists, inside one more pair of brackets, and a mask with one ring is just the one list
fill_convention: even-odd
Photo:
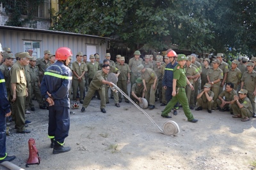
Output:
[[[131,69],[128,66],[128,64],[125,63],[125,58],[120,57],[119,63],[116,64],[116,68],[120,70],[120,74],[118,76],[117,86],[119,89],[121,89],[127,96],[128,96],[128,90],[127,85],[130,83],[130,72]],[[119,103],[122,102],[122,94],[118,93],[119,97]],[[124,97],[125,103],[129,103],[129,100]]]

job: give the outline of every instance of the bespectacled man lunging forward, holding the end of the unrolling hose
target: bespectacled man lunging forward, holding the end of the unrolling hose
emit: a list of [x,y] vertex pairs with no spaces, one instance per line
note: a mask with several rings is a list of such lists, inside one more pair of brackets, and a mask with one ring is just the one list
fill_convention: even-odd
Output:
[[[94,55],[93,55],[94,57]],[[95,93],[95,91],[99,91],[100,95],[100,111],[102,113],[106,113],[106,98],[105,98],[105,87],[104,85],[107,84],[109,86],[112,86],[112,83],[109,81],[106,81],[108,73],[109,73],[110,66],[107,64],[102,65],[102,70],[99,70],[95,73],[95,76],[93,77],[93,80],[91,81],[89,85],[89,89],[87,92],[86,97],[84,98],[83,107],[81,109],[81,112],[85,111],[85,108],[87,108],[92,100],[92,97]]]

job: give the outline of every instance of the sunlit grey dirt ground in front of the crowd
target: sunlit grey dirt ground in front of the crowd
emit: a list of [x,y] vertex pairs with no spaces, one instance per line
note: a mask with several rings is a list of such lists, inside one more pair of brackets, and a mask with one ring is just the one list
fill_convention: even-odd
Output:
[[[36,101],[34,101],[36,104]],[[30,134],[17,134],[14,123],[6,145],[9,155],[16,155],[13,163],[24,169],[253,169],[256,160],[256,120],[241,122],[228,112],[192,110],[198,122],[186,120],[183,110],[173,116],[180,133],[166,136],[131,103],[115,107],[113,99],[107,113],[101,113],[99,100],[93,99],[84,113],[72,110],[69,136],[65,145],[70,152],[52,154],[47,138],[48,112],[39,110],[26,115],[33,121]],[[81,107],[81,104],[79,104]],[[161,117],[164,106],[145,110],[162,127],[169,119]],[[28,139],[34,138],[39,151],[40,165],[26,167],[29,157]],[[6,169],[0,166],[0,169]]]

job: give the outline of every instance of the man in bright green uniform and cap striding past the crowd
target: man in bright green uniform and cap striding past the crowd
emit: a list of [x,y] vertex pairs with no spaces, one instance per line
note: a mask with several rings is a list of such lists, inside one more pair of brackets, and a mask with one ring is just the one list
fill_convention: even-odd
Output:
[[186,64],[187,57],[184,54],[179,54],[177,59],[177,66],[174,68],[173,73],[173,91],[172,91],[172,99],[164,108],[161,116],[164,118],[172,118],[168,116],[168,113],[172,110],[173,106],[179,101],[182,105],[183,111],[188,118],[189,122],[197,122],[188,106],[188,99],[186,97],[185,87],[188,84],[190,88],[193,90],[194,87],[189,83],[188,78],[186,77],[184,65]]

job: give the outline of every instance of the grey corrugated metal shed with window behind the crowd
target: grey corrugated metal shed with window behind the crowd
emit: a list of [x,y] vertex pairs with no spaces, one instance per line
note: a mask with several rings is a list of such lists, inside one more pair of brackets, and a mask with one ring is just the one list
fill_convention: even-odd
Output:
[[33,56],[44,56],[44,50],[55,53],[57,48],[67,46],[72,50],[73,59],[77,52],[89,55],[99,53],[100,60],[105,59],[109,38],[76,34],[72,32],[51,31],[26,27],[0,26],[0,43],[9,47],[12,53],[33,50]]

